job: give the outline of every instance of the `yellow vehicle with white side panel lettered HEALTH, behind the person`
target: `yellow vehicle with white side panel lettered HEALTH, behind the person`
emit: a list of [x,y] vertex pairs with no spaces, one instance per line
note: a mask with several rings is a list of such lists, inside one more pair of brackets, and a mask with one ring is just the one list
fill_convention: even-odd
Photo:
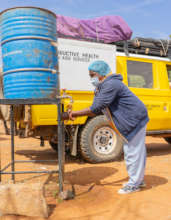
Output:
[[[117,52],[115,45],[69,39],[59,39],[58,58],[61,94],[72,96],[73,110],[92,104],[94,94],[88,65],[94,60],[104,60],[113,72],[122,74],[123,82],[145,103],[150,117],[147,135],[163,137],[171,143],[170,59],[138,54],[127,56]],[[68,104],[69,100],[63,102],[64,111]],[[25,111],[27,119],[18,123],[20,136],[24,133],[27,137],[41,137],[57,150],[56,106],[35,105]],[[123,142],[105,116],[98,115],[65,121],[65,145],[72,155],[79,153],[87,161],[97,163],[117,159],[122,153]]]

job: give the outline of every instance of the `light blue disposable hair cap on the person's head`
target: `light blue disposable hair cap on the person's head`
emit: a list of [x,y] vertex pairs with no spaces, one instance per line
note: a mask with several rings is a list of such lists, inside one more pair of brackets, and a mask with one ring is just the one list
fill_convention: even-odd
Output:
[[108,73],[111,72],[109,65],[102,60],[94,61],[93,63],[91,63],[88,67],[88,70],[92,70],[100,74],[101,76],[106,76]]

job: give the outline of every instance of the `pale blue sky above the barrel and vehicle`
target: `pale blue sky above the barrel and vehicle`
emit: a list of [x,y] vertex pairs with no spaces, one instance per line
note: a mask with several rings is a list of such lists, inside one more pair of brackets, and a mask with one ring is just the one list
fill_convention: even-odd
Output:
[[168,39],[171,35],[171,0],[0,0],[0,11],[19,6],[80,19],[119,15],[132,29],[132,38]]

